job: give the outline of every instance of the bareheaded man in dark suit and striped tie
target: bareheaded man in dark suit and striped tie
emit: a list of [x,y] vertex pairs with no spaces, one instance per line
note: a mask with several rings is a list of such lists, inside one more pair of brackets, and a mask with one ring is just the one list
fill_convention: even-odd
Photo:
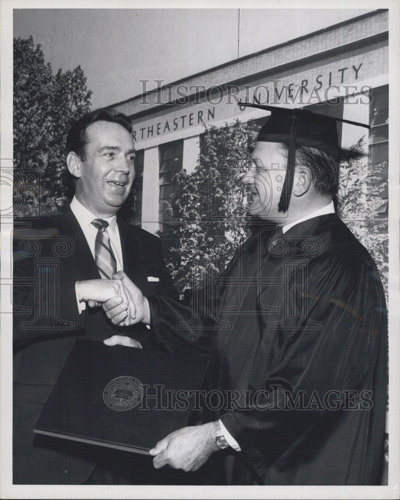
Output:
[[[117,331],[101,308],[86,307],[88,299],[126,298],[113,273],[123,269],[146,294],[177,296],[159,239],[116,216],[135,175],[131,132],[129,119],[109,109],[75,122],[66,144],[71,204],[14,230],[15,484],[123,483],[109,470],[117,454],[32,431],[75,338],[101,341]],[[131,345],[157,347],[144,324],[123,330]]]

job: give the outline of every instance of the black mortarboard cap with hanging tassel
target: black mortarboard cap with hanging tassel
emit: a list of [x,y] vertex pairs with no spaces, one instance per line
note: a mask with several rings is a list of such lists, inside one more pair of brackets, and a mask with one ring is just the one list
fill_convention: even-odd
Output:
[[238,104],[240,106],[257,107],[271,111],[271,116],[269,116],[267,122],[261,127],[257,136],[258,141],[284,142],[288,144],[287,173],[278,204],[278,208],[281,211],[286,211],[289,206],[289,198],[293,187],[297,145],[315,147],[338,158],[340,149],[337,121],[370,128],[370,125],[364,123],[313,113],[308,109],[293,109],[251,102],[238,102]]

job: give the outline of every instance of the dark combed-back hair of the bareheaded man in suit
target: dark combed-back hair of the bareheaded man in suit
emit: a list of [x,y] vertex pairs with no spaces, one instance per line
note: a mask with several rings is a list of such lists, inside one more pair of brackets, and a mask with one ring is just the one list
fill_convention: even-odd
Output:
[[132,134],[132,123],[124,113],[119,113],[112,108],[100,108],[83,115],[76,120],[69,129],[66,144],[65,156],[69,151],[75,152],[81,160],[85,160],[85,144],[87,143],[86,128],[95,121],[111,121],[122,125],[129,134]]

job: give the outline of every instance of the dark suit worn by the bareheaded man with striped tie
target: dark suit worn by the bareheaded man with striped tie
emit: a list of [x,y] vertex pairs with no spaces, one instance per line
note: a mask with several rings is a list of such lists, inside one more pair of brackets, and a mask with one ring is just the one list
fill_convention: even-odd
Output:
[[[159,238],[118,217],[117,223],[126,274],[148,295],[177,298]],[[81,484],[100,458],[102,467],[117,468],[122,453],[33,434],[75,339],[102,341],[117,333],[144,348],[159,346],[142,323],[114,326],[101,307],[78,313],[76,281],[100,275],[69,205],[48,217],[15,221],[13,236],[13,482]]]

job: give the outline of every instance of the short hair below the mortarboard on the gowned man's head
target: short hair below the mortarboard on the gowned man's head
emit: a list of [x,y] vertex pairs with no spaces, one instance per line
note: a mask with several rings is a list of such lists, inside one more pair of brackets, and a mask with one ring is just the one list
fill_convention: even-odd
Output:
[[[288,145],[281,143],[282,154],[288,157]],[[295,166],[305,165],[311,170],[315,190],[334,196],[339,190],[339,161],[329,152],[308,146],[296,146]]]

